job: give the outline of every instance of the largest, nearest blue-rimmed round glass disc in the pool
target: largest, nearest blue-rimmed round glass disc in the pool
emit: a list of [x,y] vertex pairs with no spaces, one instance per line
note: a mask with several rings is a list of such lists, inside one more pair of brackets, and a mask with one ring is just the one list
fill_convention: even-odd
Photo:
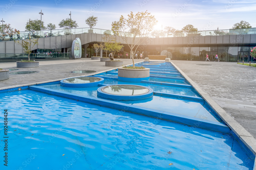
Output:
[[142,100],[152,97],[153,90],[140,85],[115,84],[98,88],[97,95],[113,100]]

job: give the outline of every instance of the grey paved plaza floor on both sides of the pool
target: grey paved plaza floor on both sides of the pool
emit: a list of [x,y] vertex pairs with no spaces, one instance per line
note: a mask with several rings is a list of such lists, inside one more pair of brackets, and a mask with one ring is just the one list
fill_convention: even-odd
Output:
[[[131,59],[120,60],[124,61],[124,65],[132,63]],[[135,60],[135,62],[139,61],[142,60]],[[172,62],[256,138],[255,67],[235,62],[177,60],[172,60]],[[16,62],[0,63],[0,68],[16,68]],[[105,62],[90,58],[40,61],[39,67],[18,68],[17,70],[39,71],[39,73],[10,75],[8,80],[0,82],[0,89],[86,75],[70,73],[76,70],[101,72],[113,68],[115,67],[106,67]]]

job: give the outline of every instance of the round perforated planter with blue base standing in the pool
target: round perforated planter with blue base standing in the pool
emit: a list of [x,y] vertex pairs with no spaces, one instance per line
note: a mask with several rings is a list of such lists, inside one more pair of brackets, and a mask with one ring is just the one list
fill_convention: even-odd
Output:
[[141,82],[149,80],[149,68],[145,69],[125,69],[118,68],[118,80],[123,82]]

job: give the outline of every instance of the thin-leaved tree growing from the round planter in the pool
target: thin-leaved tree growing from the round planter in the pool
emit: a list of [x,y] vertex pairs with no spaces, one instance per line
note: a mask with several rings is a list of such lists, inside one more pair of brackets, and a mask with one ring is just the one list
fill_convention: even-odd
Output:
[[[148,34],[153,31],[154,25],[158,22],[155,19],[155,16],[152,16],[149,12],[137,12],[133,14],[131,12],[127,15],[128,18],[125,19],[122,15],[119,21],[112,22],[112,31],[114,34],[121,37],[124,42],[128,44],[132,51],[132,62],[134,68],[134,58],[137,48],[140,44],[144,42]],[[131,32],[132,30],[132,32]],[[131,34],[131,37],[128,37],[128,34]],[[136,42],[135,42],[136,40]]]

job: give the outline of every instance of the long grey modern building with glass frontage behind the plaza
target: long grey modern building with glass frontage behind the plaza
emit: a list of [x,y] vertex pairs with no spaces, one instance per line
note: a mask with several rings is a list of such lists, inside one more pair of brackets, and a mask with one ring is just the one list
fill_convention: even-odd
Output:
[[[91,49],[92,44],[103,41],[103,33],[109,32],[109,30],[94,29],[94,33],[87,33],[87,30],[88,28],[72,29],[71,33],[69,33],[71,35],[68,35],[67,31],[55,30],[50,33],[50,36],[40,36],[39,44],[35,45],[31,50],[35,50],[35,53],[37,53],[37,49],[68,53],[73,40],[78,37],[82,44],[82,57],[86,57],[88,53],[91,56],[91,53],[93,53]],[[143,52],[144,56],[166,55],[172,60],[203,61],[206,59],[206,54],[208,54],[210,60],[214,60],[217,53],[220,61],[253,61],[249,52],[251,48],[256,46],[255,32],[256,28],[237,29],[235,31],[184,32],[179,34],[179,36],[176,36],[174,33],[165,33],[155,37],[142,38],[140,41],[143,41],[143,43],[138,47],[137,52]],[[27,32],[23,34],[26,35]],[[120,37],[116,36],[116,41],[124,45],[121,50],[122,55],[124,55],[123,53],[126,54],[126,52],[130,53],[128,44]],[[23,53],[23,49],[15,44],[14,41],[8,41],[8,38],[6,38],[5,41],[0,42],[0,57],[3,55],[12,56],[10,54],[18,53]]]

